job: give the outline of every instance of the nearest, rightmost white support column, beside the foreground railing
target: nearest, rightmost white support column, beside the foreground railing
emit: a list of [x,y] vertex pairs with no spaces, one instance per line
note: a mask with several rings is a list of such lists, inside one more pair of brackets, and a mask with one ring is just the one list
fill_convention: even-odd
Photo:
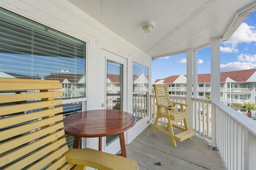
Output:
[[[211,81],[212,101],[220,101],[220,38],[211,40]],[[216,141],[216,107],[212,103],[212,147],[217,147]]]

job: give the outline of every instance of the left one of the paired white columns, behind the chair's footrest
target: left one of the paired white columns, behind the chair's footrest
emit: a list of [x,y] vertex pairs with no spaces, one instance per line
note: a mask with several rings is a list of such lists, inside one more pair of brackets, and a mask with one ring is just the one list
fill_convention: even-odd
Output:
[[188,128],[192,129],[193,125],[193,111],[192,111],[192,68],[193,68],[193,49],[187,49],[187,100],[186,103],[189,104],[189,106],[186,108],[186,111],[188,113]]

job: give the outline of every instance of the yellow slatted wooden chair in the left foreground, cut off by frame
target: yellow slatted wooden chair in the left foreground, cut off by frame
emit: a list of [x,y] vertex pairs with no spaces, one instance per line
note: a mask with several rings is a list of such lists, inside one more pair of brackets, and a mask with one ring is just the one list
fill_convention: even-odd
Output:
[[[57,91],[55,89],[58,89]],[[62,84],[57,80],[0,78],[0,169],[138,170],[129,158],[93,149],[68,149]]]

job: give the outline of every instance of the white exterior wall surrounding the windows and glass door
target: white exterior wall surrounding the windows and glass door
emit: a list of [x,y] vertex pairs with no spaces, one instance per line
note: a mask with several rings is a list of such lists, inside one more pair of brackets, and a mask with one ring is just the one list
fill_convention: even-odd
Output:
[[[124,86],[127,89],[127,106],[124,111],[132,113],[132,62],[143,64],[151,70],[149,55],[98,23],[68,0],[1,0],[0,7],[86,42],[86,110],[102,109],[101,104],[106,103],[106,58],[102,53],[108,51],[126,59],[127,82]],[[151,80],[150,71],[148,79]],[[149,119],[150,117],[145,117],[128,131],[129,134],[132,133],[130,136],[133,139],[148,126]],[[98,149],[98,139],[90,139],[88,143],[82,146]]]

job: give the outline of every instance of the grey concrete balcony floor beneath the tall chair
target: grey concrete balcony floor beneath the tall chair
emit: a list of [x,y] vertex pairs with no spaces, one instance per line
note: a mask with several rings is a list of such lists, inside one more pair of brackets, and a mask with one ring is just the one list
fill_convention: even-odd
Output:
[[[192,140],[176,141],[149,125],[127,147],[127,157],[138,162],[139,170],[225,170],[218,152],[208,148],[207,141],[194,135]],[[174,134],[180,130],[175,129]],[[160,162],[161,166],[154,165]]]

